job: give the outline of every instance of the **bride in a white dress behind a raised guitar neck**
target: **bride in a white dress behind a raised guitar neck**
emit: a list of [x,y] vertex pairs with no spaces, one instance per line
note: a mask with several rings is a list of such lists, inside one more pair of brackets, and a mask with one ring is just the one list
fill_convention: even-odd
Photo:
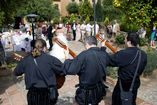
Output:
[[[62,41],[66,46],[68,46],[68,41],[63,30],[63,24],[59,24],[58,29],[56,30],[56,35],[60,41]],[[65,59],[64,52],[65,52],[64,48],[60,47],[57,43],[54,43],[52,50],[49,52],[49,54],[62,60]]]

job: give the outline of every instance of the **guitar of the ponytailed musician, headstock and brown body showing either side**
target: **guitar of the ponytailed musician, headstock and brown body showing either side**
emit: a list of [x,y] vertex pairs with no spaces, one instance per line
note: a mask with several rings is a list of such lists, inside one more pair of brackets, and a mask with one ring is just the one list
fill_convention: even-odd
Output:
[[[24,58],[23,56],[17,53],[13,53],[12,56],[14,57],[14,59],[18,61]],[[65,76],[56,75],[57,89],[60,89],[63,86],[64,82],[65,82]]]

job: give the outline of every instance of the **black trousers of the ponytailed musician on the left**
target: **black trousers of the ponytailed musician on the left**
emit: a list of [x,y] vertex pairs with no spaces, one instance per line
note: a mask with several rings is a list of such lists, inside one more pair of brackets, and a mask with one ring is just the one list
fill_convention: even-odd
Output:
[[[27,93],[28,105],[55,105],[51,102],[47,88],[31,88]],[[57,100],[56,100],[57,101]]]

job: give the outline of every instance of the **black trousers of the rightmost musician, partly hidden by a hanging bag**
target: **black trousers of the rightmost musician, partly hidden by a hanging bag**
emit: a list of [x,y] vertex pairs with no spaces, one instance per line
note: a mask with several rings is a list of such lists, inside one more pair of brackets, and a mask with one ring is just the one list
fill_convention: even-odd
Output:
[[[130,86],[131,86],[131,82],[129,83],[122,83],[123,86],[123,90],[124,91],[129,91]],[[137,97],[137,89],[139,87],[139,84],[134,84],[134,88],[133,88],[133,103],[132,105],[136,105],[136,97]],[[112,94],[112,105],[121,105],[121,99],[120,99],[120,86],[119,86],[119,81],[117,82],[114,90],[113,90],[113,94]]]

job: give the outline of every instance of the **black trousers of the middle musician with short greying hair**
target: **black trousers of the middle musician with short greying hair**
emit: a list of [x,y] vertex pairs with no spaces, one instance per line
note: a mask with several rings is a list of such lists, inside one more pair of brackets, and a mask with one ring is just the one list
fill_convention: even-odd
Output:
[[106,87],[103,83],[94,86],[81,86],[76,91],[75,100],[79,105],[98,105],[106,95]]

